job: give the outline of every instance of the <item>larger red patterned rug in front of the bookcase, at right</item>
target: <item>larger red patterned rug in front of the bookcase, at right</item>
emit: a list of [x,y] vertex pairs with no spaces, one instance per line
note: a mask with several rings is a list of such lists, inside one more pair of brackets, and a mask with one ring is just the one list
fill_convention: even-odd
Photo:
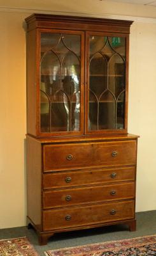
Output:
[[156,256],[156,235],[50,250],[46,256]]

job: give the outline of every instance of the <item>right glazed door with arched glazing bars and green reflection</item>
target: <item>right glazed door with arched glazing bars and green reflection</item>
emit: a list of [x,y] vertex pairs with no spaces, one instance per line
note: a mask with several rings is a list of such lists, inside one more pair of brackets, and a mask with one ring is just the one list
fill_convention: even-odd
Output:
[[125,35],[87,33],[86,133],[127,132],[128,44]]

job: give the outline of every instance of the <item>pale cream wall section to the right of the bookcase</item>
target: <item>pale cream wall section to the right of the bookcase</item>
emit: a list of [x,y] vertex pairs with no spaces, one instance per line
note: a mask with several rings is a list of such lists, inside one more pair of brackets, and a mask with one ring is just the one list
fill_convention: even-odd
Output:
[[156,24],[131,29],[129,132],[139,134],[136,211],[156,209]]

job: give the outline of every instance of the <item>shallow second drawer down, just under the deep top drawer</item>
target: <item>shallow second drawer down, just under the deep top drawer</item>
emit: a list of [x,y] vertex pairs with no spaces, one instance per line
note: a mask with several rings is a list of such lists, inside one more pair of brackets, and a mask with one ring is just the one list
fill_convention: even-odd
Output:
[[87,184],[100,184],[135,179],[135,167],[126,168],[89,168],[72,170],[71,172],[57,172],[43,174],[43,189],[66,188]]

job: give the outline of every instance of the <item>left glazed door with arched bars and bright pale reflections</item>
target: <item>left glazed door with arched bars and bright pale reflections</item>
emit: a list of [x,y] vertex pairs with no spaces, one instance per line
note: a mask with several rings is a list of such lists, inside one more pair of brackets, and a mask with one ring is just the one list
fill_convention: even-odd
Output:
[[38,133],[83,134],[83,32],[39,29],[38,42]]

